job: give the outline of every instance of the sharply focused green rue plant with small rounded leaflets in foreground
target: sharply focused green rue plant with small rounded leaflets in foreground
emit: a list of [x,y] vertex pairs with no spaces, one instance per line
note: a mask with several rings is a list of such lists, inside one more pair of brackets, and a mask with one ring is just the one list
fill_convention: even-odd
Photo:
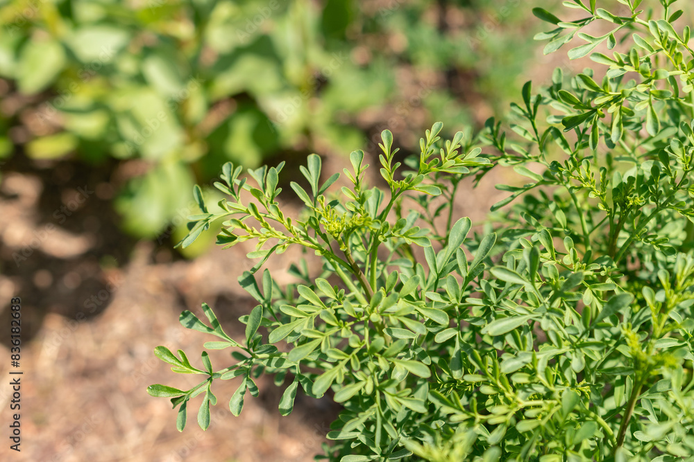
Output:
[[[641,2],[624,0],[633,15],[617,17],[594,1],[565,3],[586,19],[535,10],[557,26],[540,38],[561,41],[607,21],[613,33],[580,33],[589,46],[570,55],[600,41],[625,53],[593,51],[610,67],[600,84],[590,70],[568,80],[556,72],[539,94],[527,83],[513,133],[490,120],[474,139],[443,142],[437,123],[404,168],[384,131],[385,188],[364,183],[361,151],[350,155],[341,190],[330,188],[336,175],[321,183],[327,175],[312,155],[301,169],[308,187],[291,184],[305,204],[299,217],[276,200],[281,165],[251,170],[246,181],[227,164],[217,187],[230,197],[219,204],[229,218],[218,242],[257,242],[248,257],[260,260],[239,282],[259,304],[240,319],[242,345],[206,305],[212,328],[184,312],[184,326],[223,339],[208,348],[237,347],[235,363],[213,372],[203,357],[207,372],[198,371],[159,347],[175,371],[207,377],[189,391],[153,385],[150,393],[175,396],[176,406],[215,379],[241,376],[230,401],[237,415],[246,390],[257,394],[252,377],[270,373],[291,382],[285,415],[298,385],[308,396],[332,390],[344,411],[328,434],[331,461],[694,458],[688,28],[670,24],[679,13],[668,6],[640,12]],[[453,217],[455,190],[494,165],[513,166],[525,184],[498,186],[511,195],[493,209],[513,205],[478,234]],[[191,217],[183,245],[218,217],[196,197],[203,213]],[[290,269],[299,283],[279,287],[264,270],[259,284],[254,273],[290,245],[319,256],[321,274],[303,263]],[[214,400],[203,398],[203,428]]]

